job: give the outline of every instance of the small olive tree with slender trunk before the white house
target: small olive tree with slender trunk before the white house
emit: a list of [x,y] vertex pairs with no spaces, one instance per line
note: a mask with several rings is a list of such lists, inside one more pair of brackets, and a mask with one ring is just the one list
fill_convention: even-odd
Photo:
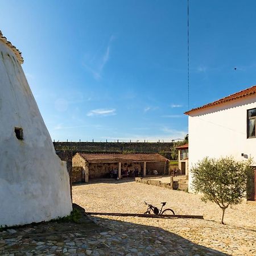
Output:
[[222,209],[221,224],[229,205],[239,204],[250,193],[253,170],[252,160],[238,162],[232,157],[220,159],[204,158],[193,166],[192,188],[202,193],[201,200],[211,201]]

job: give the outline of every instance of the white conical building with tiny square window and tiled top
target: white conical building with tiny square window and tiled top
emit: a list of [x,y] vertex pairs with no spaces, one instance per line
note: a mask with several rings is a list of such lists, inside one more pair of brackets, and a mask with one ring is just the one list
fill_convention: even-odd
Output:
[[71,213],[66,163],[55,154],[18,49],[0,31],[0,226]]

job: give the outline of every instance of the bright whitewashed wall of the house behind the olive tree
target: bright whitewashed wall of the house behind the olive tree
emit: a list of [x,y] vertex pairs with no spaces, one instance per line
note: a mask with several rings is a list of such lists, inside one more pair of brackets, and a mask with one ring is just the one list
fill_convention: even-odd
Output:
[[[256,138],[247,139],[247,109],[256,108],[256,96],[249,96],[191,113],[189,125],[189,169],[205,156],[219,158],[241,154],[256,162]],[[192,176],[189,172],[189,191]]]

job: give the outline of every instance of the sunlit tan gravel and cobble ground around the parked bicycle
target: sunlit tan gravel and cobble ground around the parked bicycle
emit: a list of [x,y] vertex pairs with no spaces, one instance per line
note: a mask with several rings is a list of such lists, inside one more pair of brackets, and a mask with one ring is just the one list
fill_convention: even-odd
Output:
[[[148,219],[138,217],[98,216],[101,223],[117,220],[161,228],[197,245],[230,255],[256,255],[256,205],[240,204],[228,208],[220,224],[221,209],[213,203],[203,203],[199,195],[135,183],[131,180],[106,181],[73,187],[73,202],[88,212],[143,213],[147,203],[166,208],[176,214],[203,215],[204,220]],[[97,219],[96,218],[96,219]]]

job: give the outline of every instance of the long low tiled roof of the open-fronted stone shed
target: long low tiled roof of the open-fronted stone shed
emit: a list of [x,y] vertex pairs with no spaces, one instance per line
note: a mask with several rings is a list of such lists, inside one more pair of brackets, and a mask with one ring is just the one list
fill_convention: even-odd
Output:
[[119,153],[77,153],[82,158],[84,158],[87,162],[160,162],[160,161],[168,161],[164,156],[156,153],[134,153],[134,154],[119,154]]

